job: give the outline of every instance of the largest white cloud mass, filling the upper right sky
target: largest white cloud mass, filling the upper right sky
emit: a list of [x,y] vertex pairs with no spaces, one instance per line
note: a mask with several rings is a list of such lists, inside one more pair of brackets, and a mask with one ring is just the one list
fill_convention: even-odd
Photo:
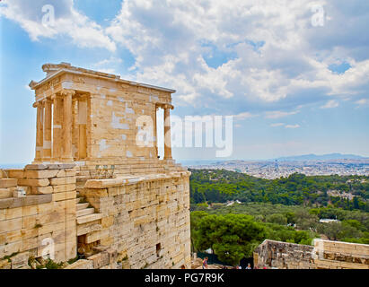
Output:
[[[175,87],[177,106],[192,106],[198,113],[221,106],[237,114],[273,104],[294,115],[291,109],[327,95],[351,97],[369,90],[368,55],[358,55],[369,48],[369,40],[356,26],[341,25],[345,19],[357,26],[367,23],[369,15],[361,13],[367,5],[321,4],[330,20],[317,28],[310,0],[127,0],[106,31],[136,58],[131,70],[136,80]],[[338,40],[338,30],[351,40]],[[342,63],[350,68],[331,71]],[[268,115],[278,117],[285,114]]]

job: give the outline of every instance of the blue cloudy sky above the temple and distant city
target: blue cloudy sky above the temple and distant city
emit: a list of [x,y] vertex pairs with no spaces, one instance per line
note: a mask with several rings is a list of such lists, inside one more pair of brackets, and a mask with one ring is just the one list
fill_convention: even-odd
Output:
[[367,0],[3,0],[0,163],[32,161],[28,83],[60,62],[175,89],[171,115],[233,116],[229,159],[369,156],[368,26]]

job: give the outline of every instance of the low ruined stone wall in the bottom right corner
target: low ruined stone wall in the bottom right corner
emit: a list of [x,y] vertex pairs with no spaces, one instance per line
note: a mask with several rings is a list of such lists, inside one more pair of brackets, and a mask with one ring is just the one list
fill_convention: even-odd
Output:
[[369,245],[314,239],[314,245],[265,240],[254,265],[277,269],[369,269]]

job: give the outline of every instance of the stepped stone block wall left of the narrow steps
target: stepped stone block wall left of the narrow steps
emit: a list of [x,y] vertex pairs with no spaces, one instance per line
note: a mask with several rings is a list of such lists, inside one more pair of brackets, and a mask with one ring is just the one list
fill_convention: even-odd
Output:
[[[73,167],[28,165],[24,170],[2,171],[0,259],[10,257],[12,268],[27,267],[29,257],[46,255],[50,248],[56,261],[76,256]],[[20,257],[22,264],[13,265]]]

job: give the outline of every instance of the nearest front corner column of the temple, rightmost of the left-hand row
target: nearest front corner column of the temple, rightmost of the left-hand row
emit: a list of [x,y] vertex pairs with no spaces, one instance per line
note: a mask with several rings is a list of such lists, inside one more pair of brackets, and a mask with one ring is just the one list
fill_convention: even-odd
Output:
[[75,94],[74,90],[62,91],[64,102],[63,115],[63,160],[73,161],[72,155],[72,96]]

